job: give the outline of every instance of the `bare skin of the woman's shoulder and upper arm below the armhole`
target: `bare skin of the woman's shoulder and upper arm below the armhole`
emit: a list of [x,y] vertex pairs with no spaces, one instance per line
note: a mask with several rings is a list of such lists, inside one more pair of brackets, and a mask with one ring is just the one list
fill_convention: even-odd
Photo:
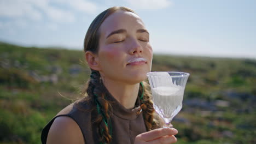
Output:
[[85,143],[78,124],[70,117],[55,118],[48,133],[47,143]]

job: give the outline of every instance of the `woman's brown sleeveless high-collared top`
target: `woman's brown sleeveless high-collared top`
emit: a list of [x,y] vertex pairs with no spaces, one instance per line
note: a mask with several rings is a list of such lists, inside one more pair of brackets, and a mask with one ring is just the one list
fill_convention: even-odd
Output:
[[[139,113],[140,100],[137,98],[135,108],[132,110],[125,109],[110,93],[106,94],[108,100],[112,101],[113,112],[110,116],[112,122],[112,141],[111,143],[133,143],[138,134],[146,132],[143,114]],[[49,129],[54,119],[60,116],[68,116],[74,119],[79,125],[86,144],[100,143],[95,125],[92,123],[95,115],[90,108],[88,101],[76,101],[61,110],[51,121],[44,127],[41,135],[42,143],[46,143]],[[139,113],[139,114],[138,114]]]

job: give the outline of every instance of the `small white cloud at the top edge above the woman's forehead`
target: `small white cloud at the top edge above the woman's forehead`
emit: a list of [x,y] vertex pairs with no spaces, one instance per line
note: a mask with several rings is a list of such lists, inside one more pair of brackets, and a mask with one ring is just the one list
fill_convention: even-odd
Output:
[[137,9],[164,9],[171,5],[168,0],[125,0]]

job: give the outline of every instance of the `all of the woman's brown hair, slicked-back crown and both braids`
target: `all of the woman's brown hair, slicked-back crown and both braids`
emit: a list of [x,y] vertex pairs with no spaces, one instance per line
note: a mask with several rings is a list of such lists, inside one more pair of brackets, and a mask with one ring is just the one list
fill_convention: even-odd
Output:
[[[135,13],[133,10],[126,7],[112,7],[107,10],[104,10],[101,14],[99,14],[94,21],[92,21],[91,25],[88,28],[88,31],[85,35],[84,39],[84,52],[91,51],[93,53],[98,52],[98,43],[100,39],[100,26],[101,23],[111,14],[115,13],[117,10],[130,11],[131,13]],[[91,79],[88,80],[86,89],[84,91],[84,95],[86,94],[86,100],[90,101],[92,104],[91,110],[98,111],[97,105],[101,106],[101,111],[96,112],[97,116],[95,117],[94,124],[97,127],[97,132],[100,135],[100,141],[103,143],[110,143],[112,137],[109,134],[108,125],[105,123],[106,119],[110,119],[111,113],[111,104],[104,97],[106,95],[105,87],[101,80],[100,73],[96,70],[91,69],[92,75]],[[152,130],[158,127],[154,119],[154,109],[153,102],[151,100],[151,94],[148,91],[149,85],[147,82],[143,82],[144,84],[144,96],[141,99],[141,107],[143,110],[144,122],[146,124],[147,130]],[[139,87],[139,97],[143,93],[142,86]],[[99,104],[97,104],[99,103]],[[106,118],[106,119],[104,119]],[[105,121],[105,122],[104,122]],[[103,129],[103,130],[102,130]]]

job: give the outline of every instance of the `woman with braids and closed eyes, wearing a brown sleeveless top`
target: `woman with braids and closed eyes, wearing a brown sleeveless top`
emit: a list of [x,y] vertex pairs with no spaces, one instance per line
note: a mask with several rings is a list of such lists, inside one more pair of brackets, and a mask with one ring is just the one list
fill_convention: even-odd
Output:
[[[141,18],[112,7],[92,21],[84,40],[91,68],[86,97],[67,106],[42,132],[43,143],[174,143],[176,129],[156,129],[147,90],[152,47]],[[145,86],[144,86],[145,85]]]

